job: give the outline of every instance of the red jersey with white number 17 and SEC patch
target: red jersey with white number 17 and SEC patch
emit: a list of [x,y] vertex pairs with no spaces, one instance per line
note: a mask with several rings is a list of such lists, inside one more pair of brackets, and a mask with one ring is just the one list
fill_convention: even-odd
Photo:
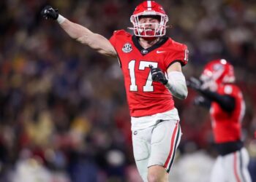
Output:
[[149,65],[167,68],[176,61],[187,64],[187,46],[167,36],[148,49],[140,46],[138,38],[127,31],[115,31],[110,43],[116,49],[124,75],[127,102],[131,116],[149,116],[174,108],[173,96],[165,85],[153,82]]

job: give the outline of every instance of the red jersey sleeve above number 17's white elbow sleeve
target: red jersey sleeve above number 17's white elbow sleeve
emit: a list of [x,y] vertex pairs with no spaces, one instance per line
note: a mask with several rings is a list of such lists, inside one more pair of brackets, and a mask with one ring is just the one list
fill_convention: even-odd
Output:
[[173,63],[179,62],[181,66],[187,65],[189,60],[189,50],[187,45],[180,44],[175,50],[171,50],[165,59],[165,66],[169,68]]

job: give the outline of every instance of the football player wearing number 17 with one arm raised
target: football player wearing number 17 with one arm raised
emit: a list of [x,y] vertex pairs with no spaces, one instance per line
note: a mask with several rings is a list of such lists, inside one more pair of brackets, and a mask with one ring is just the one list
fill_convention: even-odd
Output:
[[118,58],[124,74],[132,122],[132,146],[143,181],[168,181],[181,127],[173,96],[187,97],[181,67],[188,61],[185,44],[165,36],[168,17],[155,1],[143,1],[130,20],[134,35],[115,31],[108,40],[88,28],[72,23],[50,6],[45,19],[56,20],[73,39],[102,55]]

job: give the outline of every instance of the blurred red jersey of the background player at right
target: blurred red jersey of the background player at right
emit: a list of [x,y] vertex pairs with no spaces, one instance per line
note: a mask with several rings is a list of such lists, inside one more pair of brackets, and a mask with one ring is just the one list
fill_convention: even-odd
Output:
[[218,103],[211,103],[211,121],[216,143],[241,140],[241,121],[244,116],[245,104],[241,90],[234,84],[221,85],[217,92],[220,95],[230,95],[235,98],[235,109],[227,113]]

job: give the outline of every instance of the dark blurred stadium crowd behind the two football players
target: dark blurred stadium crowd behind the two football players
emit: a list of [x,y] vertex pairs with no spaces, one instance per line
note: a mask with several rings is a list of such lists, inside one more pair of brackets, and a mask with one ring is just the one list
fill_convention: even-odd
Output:
[[[244,92],[244,141],[256,181],[256,1],[159,0],[189,47],[184,74],[208,60],[233,63]],[[131,26],[140,1],[0,1],[0,181],[140,181],[118,61],[104,58],[39,15],[47,4],[110,38]],[[176,100],[184,133],[172,181],[207,182],[215,157],[208,111]],[[203,164],[203,166],[202,166]],[[201,171],[200,171],[201,170]],[[203,172],[202,172],[203,170]],[[184,175],[186,174],[186,175]],[[205,175],[205,176],[204,176]]]

